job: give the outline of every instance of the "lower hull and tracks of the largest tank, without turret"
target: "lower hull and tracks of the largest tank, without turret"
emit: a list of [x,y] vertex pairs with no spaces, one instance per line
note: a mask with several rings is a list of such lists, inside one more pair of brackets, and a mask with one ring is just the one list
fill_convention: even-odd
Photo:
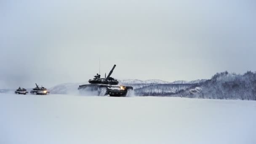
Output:
[[88,84],[79,85],[80,94],[83,92],[94,92],[93,96],[131,96],[133,87],[121,85],[105,85],[105,84]]

